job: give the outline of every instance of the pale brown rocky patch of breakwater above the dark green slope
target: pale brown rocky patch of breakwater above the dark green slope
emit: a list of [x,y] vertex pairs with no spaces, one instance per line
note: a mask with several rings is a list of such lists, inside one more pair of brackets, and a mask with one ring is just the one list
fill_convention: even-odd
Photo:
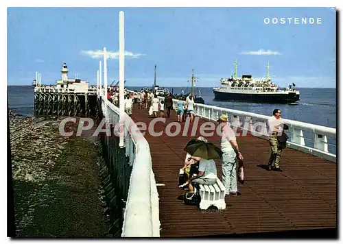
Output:
[[10,117],[14,180],[39,183],[45,179],[69,140],[59,134],[62,119]]

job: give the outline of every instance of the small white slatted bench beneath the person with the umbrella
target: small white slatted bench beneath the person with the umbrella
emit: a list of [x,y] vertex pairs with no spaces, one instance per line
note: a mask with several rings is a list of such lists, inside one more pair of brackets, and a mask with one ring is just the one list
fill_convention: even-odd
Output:
[[218,209],[225,209],[225,187],[217,178],[213,185],[199,185],[199,194],[201,197],[200,209],[207,209],[209,206],[216,206]]

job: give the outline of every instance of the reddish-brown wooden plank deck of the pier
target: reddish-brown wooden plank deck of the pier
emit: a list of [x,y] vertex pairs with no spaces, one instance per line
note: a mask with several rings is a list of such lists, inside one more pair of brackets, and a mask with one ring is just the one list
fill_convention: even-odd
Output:
[[[132,119],[147,125],[152,120],[147,110],[139,110],[137,105]],[[165,119],[166,123],[155,124],[156,132],[177,121],[176,113],[172,111],[171,117]],[[198,128],[204,122],[200,119]],[[190,132],[191,127],[188,135]],[[196,136],[200,136],[199,130]],[[246,182],[238,183],[241,195],[226,196],[225,210],[202,211],[178,199],[184,193],[177,187],[178,171],[185,160],[183,148],[191,137],[169,137],[165,133],[154,137],[146,131],[145,138],[150,145],[156,182],[165,184],[158,186],[161,237],[337,228],[336,164],[333,162],[287,148],[281,157],[283,172],[267,171],[261,164],[266,164],[270,156],[268,141],[254,136],[237,137],[246,175]],[[206,138],[220,145],[219,136]],[[217,173],[222,179],[220,160]]]

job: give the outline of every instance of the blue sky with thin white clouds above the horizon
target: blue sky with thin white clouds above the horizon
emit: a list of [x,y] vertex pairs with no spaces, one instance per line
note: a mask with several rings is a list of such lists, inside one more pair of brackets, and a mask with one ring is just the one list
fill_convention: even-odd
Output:
[[8,85],[31,85],[36,71],[56,84],[63,62],[96,84],[104,47],[108,84],[118,80],[119,11],[127,86],[152,85],[155,64],[160,86],[189,86],[192,69],[196,86],[219,86],[237,60],[238,76],[266,77],[269,61],[279,86],[336,87],[333,8],[8,8]]

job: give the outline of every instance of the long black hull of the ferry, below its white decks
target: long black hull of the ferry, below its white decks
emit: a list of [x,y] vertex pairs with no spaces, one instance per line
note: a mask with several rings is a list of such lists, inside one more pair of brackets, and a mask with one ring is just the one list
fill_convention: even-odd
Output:
[[281,94],[248,94],[248,93],[225,93],[213,90],[215,100],[218,101],[248,101],[257,103],[294,103],[300,100],[300,95],[294,92]]

